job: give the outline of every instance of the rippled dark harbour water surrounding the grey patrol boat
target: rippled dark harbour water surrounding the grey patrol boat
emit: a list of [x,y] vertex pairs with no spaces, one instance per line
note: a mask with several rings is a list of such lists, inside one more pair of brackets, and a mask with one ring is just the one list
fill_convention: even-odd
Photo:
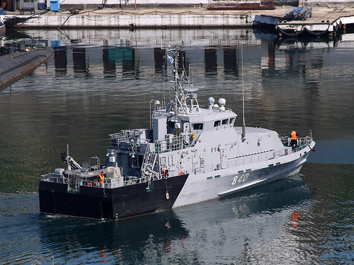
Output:
[[[354,264],[354,117],[351,34],[276,39],[246,29],[69,30],[11,33],[3,46],[60,46],[32,74],[0,88],[1,265]],[[39,214],[38,181],[105,157],[108,134],[149,126],[161,82],[158,48],[186,43],[201,105],[226,98],[246,124],[300,136],[312,152],[300,177],[234,197],[120,221]],[[57,41],[57,42],[52,42]],[[2,50],[3,51],[3,50]],[[188,70],[187,70],[188,71]],[[193,77],[193,78],[192,78]]]

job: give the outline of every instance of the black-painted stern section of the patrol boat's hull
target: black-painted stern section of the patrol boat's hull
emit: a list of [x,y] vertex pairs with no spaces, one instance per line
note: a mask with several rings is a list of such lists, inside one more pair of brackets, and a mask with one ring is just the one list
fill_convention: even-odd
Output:
[[[118,188],[81,186],[80,192],[68,192],[67,184],[40,181],[40,212],[95,219],[122,219],[171,209],[188,174]],[[169,199],[166,199],[166,189]]]

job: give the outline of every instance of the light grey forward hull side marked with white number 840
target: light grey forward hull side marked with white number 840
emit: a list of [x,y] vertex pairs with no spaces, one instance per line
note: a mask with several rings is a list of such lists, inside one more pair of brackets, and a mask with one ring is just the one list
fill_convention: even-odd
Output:
[[310,146],[293,153],[289,160],[280,157],[267,160],[263,166],[261,163],[248,164],[200,175],[190,174],[173,208],[217,199],[295,175],[314,145],[313,141]]

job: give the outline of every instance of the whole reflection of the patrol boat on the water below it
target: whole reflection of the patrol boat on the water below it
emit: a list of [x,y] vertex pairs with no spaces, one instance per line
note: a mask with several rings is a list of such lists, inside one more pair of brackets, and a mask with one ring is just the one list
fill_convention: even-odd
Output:
[[[235,229],[240,221],[252,224],[254,218],[269,220],[267,216],[272,214],[276,215],[276,220],[269,222],[270,229],[278,230],[275,232],[278,235],[286,219],[284,215],[291,212],[289,209],[301,209],[311,198],[302,180],[294,177],[237,196],[119,221],[100,222],[45,215],[40,215],[37,221],[41,244],[49,247],[52,255],[66,257],[79,264],[83,259],[103,259],[102,253],[108,260],[124,264],[146,264],[151,255],[154,257],[152,264],[161,264],[165,258],[176,262],[184,253],[188,258],[179,264],[204,264],[211,257],[208,258],[205,250],[190,250],[194,249],[194,244],[203,243],[209,248],[214,244],[213,233],[218,234],[216,238],[224,237],[221,234],[225,233],[225,225]],[[282,217],[279,218],[279,214]],[[221,241],[237,240],[237,235],[228,236],[230,239]],[[225,247],[232,248],[231,245]],[[230,260],[230,257],[225,259]]]

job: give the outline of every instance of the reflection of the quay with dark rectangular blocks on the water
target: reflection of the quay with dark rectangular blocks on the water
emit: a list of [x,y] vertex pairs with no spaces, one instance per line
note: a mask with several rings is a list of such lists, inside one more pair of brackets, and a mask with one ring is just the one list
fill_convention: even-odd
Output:
[[[54,66],[55,75],[72,75],[78,77],[79,73],[100,73],[103,78],[122,78],[137,76],[139,74],[156,73],[160,74],[163,64],[163,53],[161,53],[161,31],[141,30],[138,36],[132,35],[126,30],[112,31],[112,36],[102,43],[102,35],[108,35],[109,30],[68,30],[66,35],[56,30],[41,31],[41,40],[60,40],[59,47],[55,47]],[[38,35],[38,31],[28,31],[29,34]],[[217,78],[238,76],[238,66],[240,58],[241,36],[247,35],[247,41],[243,41],[243,47],[257,47],[261,51],[261,57],[256,53],[252,54],[252,59],[244,58],[244,62],[249,62],[253,69],[262,71],[250,71],[249,75],[273,75],[274,71],[283,73],[292,71],[297,60],[296,54],[289,54],[286,50],[297,47],[298,51],[311,49],[327,49],[340,43],[353,45],[354,34],[337,34],[336,38],[276,38],[275,34],[258,33],[247,29],[213,29],[212,37],[205,37],[203,31],[189,30],[169,30],[162,32],[163,45],[173,45],[180,42],[178,36],[188,36],[185,54],[185,66],[191,65],[193,73],[191,75],[211,75]],[[136,42],[136,37],[138,41]],[[79,40],[79,44],[72,40]],[[334,41],[336,39],[336,41]],[[165,40],[168,40],[165,41]],[[27,41],[22,41],[27,43]],[[45,41],[48,44],[51,42]],[[10,45],[11,41],[6,40],[5,45]],[[16,47],[18,44],[11,44]],[[52,42],[53,45],[53,42]],[[29,45],[27,45],[29,46]],[[253,48],[252,48],[253,49]],[[6,52],[6,51],[2,51]],[[71,54],[71,53],[77,54]],[[258,58],[257,58],[258,57]],[[307,55],[305,58],[310,58]],[[150,62],[153,62],[152,64]],[[306,64],[310,62],[306,59]],[[317,65],[317,64],[316,64]],[[165,66],[166,68],[167,66]],[[139,70],[140,68],[140,70]],[[296,69],[293,69],[296,71]],[[285,74],[285,73],[284,73]],[[294,74],[294,72],[292,72]],[[258,88],[261,88],[260,85]]]

